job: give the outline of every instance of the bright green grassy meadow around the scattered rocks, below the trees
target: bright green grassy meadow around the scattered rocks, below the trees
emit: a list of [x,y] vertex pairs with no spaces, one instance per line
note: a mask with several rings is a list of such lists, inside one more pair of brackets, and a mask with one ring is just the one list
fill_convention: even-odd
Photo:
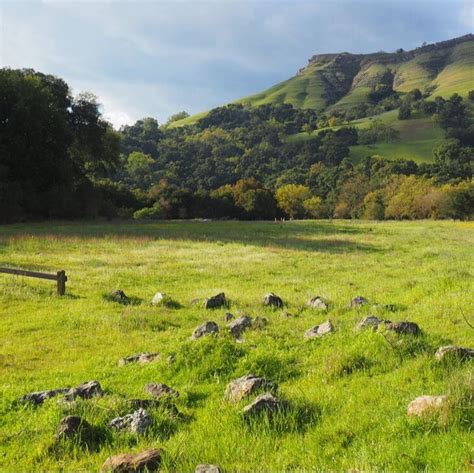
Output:
[[[472,363],[440,364],[433,354],[440,345],[473,345],[464,320],[472,323],[474,313],[473,230],[472,223],[308,221],[0,227],[0,266],[65,269],[69,277],[59,297],[50,281],[0,275],[0,470],[97,471],[111,454],[156,446],[165,471],[199,463],[227,472],[469,471]],[[106,301],[114,289],[140,303]],[[156,291],[181,307],[152,307]],[[225,330],[226,310],[190,304],[220,291],[230,312],[264,316],[268,325],[238,343]],[[262,306],[270,291],[284,310]],[[316,295],[329,300],[327,314],[305,308]],[[371,304],[348,309],[356,295]],[[372,313],[416,322],[423,334],[354,331]],[[335,333],[303,339],[328,318]],[[191,341],[205,320],[219,324],[219,336]],[[118,366],[145,351],[161,358]],[[230,405],[223,393],[248,373],[276,381],[291,410],[245,423],[240,412],[252,399]],[[36,408],[16,402],[92,379],[104,397]],[[127,398],[147,397],[148,382],[177,389],[182,415],[152,409],[144,437],[110,431],[113,417],[130,412]],[[407,418],[415,397],[445,393],[447,418]],[[100,440],[56,441],[67,414],[83,416]]]

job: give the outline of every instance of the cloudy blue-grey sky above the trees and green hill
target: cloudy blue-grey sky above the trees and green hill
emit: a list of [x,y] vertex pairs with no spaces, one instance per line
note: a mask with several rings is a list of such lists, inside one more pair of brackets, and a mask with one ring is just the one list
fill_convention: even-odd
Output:
[[318,53],[472,32],[474,0],[0,0],[0,66],[98,96],[115,127],[260,92]]

